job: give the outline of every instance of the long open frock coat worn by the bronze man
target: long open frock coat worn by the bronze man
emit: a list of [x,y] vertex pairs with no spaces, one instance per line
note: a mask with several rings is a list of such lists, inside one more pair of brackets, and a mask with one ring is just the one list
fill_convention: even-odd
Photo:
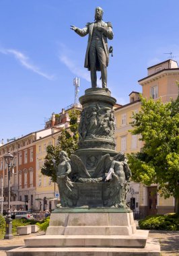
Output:
[[[109,63],[109,51],[108,51],[108,39],[112,40],[113,38],[113,32],[112,32],[112,24],[110,22],[101,22],[101,26],[106,28],[105,32],[102,32],[102,43],[104,46],[104,51],[106,53],[106,67],[108,67]],[[85,64],[84,67],[87,67],[87,69],[90,70],[90,65],[89,65],[89,47],[92,41],[92,34],[93,34],[93,29],[94,29],[94,22],[93,23],[87,23],[85,28],[79,29],[77,28],[75,32],[79,34],[79,36],[88,36],[88,41],[87,41],[87,49],[85,53]],[[107,39],[108,38],[108,39]],[[100,71],[100,67],[97,67],[97,70]]]

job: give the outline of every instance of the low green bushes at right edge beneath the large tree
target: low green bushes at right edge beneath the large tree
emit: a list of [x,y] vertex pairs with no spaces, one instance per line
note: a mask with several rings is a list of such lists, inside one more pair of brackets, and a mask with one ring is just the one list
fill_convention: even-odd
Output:
[[139,220],[139,227],[148,230],[179,230],[179,218],[177,214],[147,216]]

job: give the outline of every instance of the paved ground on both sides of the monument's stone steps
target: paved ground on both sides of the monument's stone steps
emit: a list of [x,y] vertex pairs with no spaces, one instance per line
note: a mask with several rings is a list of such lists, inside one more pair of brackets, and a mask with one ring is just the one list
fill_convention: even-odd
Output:
[[[0,256],[6,256],[5,251],[24,246],[24,238],[40,236],[44,232],[14,236],[12,240],[0,240]],[[179,256],[179,231],[149,230],[149,238],[160,241],[162,256]]]

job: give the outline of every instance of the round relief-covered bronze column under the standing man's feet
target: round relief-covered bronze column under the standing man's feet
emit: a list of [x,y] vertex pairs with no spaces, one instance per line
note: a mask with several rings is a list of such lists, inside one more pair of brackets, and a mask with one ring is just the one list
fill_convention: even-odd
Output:
[[83,106],[79,123],[79,144],[75,152],[93,174],[99,160],[105,154],[116,154],[114,141],[114,115],[116,99],[108,88],[89,88],[79,98]]

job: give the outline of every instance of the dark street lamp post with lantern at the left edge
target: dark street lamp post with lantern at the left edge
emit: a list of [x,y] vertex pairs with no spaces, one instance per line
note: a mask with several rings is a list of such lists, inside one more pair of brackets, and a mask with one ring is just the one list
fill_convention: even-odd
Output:
[[10,190],[10,167],[13,161],[13,155],[8,151],[7,154],[4,155],[5,162],[8,168],[8,209],[7,215],[5,218],[5,239],[12,239],[12,219],[11,219],[11,209],[10,209],[10,201],[11,201],[11,190]]

